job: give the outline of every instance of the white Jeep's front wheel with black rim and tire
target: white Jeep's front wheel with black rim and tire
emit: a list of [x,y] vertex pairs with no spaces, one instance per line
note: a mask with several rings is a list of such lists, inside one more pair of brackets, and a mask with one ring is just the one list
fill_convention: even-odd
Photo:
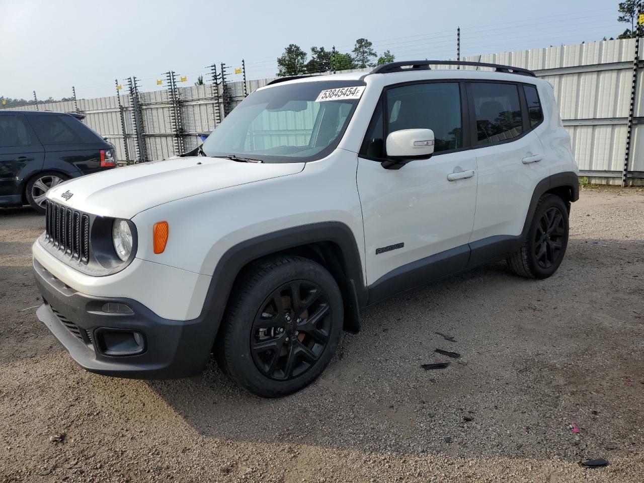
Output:
[[296,392],[331,361],[343,316],[337,283],[319,263],[298,256],[263,261],[231,294],[217,361],[256,395]]

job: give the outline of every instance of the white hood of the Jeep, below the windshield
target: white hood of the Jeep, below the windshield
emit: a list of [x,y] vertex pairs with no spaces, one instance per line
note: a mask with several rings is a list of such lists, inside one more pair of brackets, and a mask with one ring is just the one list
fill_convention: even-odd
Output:
[[232,186],[294,175],[304,163],[246,163],[189,156],[118,167],[61,183],[51,200],[79,211],[132,218],[156,205]]

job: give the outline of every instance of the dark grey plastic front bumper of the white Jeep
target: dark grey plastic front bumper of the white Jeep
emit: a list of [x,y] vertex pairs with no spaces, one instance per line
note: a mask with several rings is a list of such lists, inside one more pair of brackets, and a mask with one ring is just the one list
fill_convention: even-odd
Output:
[[[132,299],[77,292],[35,259],[33,268],[44,301],[38,319],[86,370],[137,379],[175,379],[204,370],[218,325],[209,323],[207,311],[190,321],[164,319]],[[131,313],[105,312],[106,303],[127,305]],[[137,331],[144,347],[135,355],[108,355],[100,342],[105,329]]]

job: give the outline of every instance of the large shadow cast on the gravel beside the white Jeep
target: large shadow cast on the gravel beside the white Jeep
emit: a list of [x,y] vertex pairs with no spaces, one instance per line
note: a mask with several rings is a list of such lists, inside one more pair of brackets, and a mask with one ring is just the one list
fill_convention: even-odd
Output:
[[[596,255],[587,243],[571,240],[547,281],[497,263],[366,309],[363,330],[345,334],[321,377],[288,397],[245,393],[214,363],[201,381],[149,384],[195,431],[218,440],[569,460],[638,451],[644,352],[631,335],[642,330],[644,302],[624,314],[619,294],[606,295],[620,264],[589,267]],[[433,362],[450,366],[421,368]]]

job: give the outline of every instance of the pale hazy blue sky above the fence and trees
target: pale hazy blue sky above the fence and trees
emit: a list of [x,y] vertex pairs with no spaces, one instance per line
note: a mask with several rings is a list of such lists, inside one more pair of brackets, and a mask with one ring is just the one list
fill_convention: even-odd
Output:
[[[450,59],[617,37],[612,0],[138,1],[0,0],[0,96],[91,98],[115,94],[115,79],[140,90],[174,70],[192,85],[210,64],[245,60],[247,79],[274,77],[285,46],[355,39],[396,60]],[[230,80],[241,76],[231,75]],[[207,79],[206,79],[207,80]]]

